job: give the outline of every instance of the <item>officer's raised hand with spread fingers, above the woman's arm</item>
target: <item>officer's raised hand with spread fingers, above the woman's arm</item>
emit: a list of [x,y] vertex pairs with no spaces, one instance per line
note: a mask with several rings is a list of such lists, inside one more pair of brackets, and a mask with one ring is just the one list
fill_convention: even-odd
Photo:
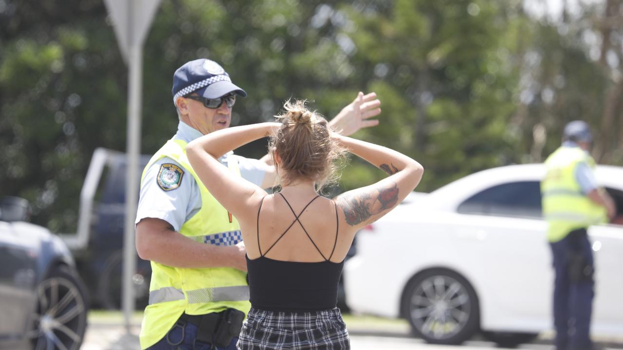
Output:
[[380,106],[381,101],[376,97],[376,93],[371,92],[364,95],[363,92],[359,92],[353,102],[345,106],[330,121],[329,125],[341,135],[353,135],[361,128],[369,128],[379,124],[378,120],[370,120],[369,118],[381,113]]

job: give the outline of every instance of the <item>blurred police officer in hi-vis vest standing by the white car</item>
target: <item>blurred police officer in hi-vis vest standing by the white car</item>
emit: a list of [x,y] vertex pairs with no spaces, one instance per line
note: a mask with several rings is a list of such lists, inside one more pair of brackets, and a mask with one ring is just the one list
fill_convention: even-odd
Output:
[[563,144],[545,161],[543,214],[554,265],[557,350],[597,349],[590,339],[594,265],[586,230],[614,217],[611,197],[597,186],[592,136],[584,121],[565,126]]

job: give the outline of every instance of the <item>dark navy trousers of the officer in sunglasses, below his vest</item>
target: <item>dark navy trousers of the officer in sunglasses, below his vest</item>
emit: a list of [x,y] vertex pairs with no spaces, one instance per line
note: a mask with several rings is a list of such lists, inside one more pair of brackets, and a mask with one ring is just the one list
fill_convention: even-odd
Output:
[[[195,341],[197,338],[197,326],[192,323],[187,323],[184,321],[178,321],[178,323],[171,328],[169,333],[164,336],[164,338],[160,339],[158,343],[153,344],[148,348],[148,350],[210,350],[212,349],[212,344],[201,343],[199,341]],[[238,337],[234,337],[231,343],[227,345],[226,348],[217,348],[214,346],[213,349],[218,350],[235,350],[235,344],[238,343]]]

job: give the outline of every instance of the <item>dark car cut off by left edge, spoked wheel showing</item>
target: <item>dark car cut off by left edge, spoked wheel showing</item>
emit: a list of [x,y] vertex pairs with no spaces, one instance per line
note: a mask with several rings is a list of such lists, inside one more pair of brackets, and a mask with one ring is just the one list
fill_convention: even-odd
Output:
[[74,258],[27,213],[25,199],[0,199],[0,348],[79,349],[88,306]]

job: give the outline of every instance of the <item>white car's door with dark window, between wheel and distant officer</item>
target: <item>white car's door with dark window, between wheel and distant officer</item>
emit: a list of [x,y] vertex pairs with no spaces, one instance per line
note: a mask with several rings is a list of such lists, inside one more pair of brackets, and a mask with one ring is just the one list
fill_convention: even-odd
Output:
[[457,238],[473,240],[469,268],[482,328],[540,331],[551,325],[553,273],[538,181],[487,187],[457,207]]

